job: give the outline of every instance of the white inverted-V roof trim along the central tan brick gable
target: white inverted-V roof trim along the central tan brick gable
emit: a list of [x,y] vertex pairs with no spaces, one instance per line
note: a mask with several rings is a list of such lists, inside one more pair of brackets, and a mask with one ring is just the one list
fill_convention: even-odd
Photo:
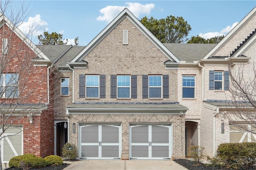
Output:
[[81,61],[108,33],[113,30],[124,18],[128,18],[134,26],[138,28],[156,47],[166,55],[170,61],[180,62],[180,60],[169,51],[127,8],[125,8],[100,34],[98,34],[72,61],[70,64]]

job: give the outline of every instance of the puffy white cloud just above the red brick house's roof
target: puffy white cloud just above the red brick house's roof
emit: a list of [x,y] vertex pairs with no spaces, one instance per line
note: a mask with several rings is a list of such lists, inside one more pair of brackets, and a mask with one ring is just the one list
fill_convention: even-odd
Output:
[[18,28],[24,34],[38,36],[43,34],[44,31],[48,31],[48,28],[46,27],[47,25],[48,23],[42,20],[39,14],[36,14],[35,17],[29,17],[28,21],[22,22]]

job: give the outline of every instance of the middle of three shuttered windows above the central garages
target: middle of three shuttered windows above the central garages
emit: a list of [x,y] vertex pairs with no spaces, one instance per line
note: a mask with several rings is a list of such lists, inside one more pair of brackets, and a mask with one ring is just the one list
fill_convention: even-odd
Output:
[[130,87],[131,87],[130,75],[117,76],[117,98],[131,98]]

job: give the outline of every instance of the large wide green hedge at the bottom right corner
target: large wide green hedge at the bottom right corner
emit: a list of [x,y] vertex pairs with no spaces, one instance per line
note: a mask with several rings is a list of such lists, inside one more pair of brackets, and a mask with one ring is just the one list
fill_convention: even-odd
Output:
[[208,160],[213,166],[248,169],[256,164],[256,143],[220,144],[216,156]]

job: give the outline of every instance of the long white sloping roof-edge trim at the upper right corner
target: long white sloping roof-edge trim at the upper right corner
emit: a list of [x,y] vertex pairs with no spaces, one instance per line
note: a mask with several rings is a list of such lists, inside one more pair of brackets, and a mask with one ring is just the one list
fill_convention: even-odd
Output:
[[207,59],[209,57],[212,57],[214,53],[216,53],[236,32],[238,32],[239,28],[244,26],[252,16],[256,14],[256,7],[254,7],[249,14],[247,14],[217,45],[213,47],[211,51],[209,51],[203,59]]

